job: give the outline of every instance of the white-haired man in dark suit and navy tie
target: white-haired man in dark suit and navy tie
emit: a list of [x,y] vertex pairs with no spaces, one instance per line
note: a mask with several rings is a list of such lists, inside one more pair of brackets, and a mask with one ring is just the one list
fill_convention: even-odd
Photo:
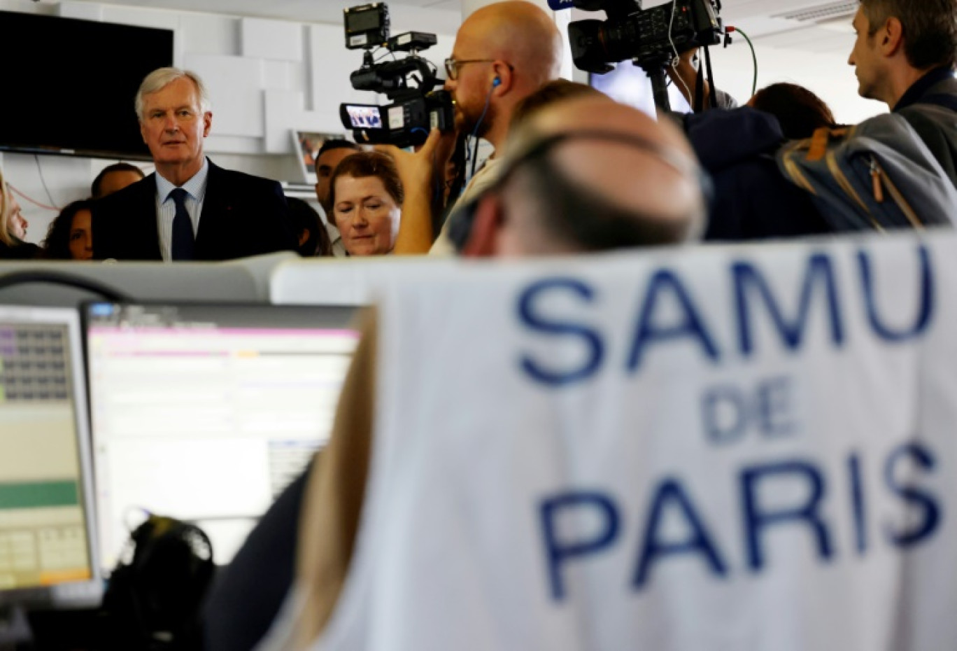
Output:
[[223,260],[296,249],[279,184],[219,168],[203,153],[212,111],[199,76],[153,71],[136,113],[156,173],[95,205],[94,258]]

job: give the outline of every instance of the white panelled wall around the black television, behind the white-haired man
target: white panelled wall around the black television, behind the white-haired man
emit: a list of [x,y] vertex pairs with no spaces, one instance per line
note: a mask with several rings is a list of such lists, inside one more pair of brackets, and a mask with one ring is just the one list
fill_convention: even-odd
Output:
[[[372,94],[357,92],[349,85],[349,73],[362,64],[362,52],[345,49],[341,24],[72,1],[49,5],[0,0],[0,10],[173,30],[174,63],[199,73],[210,87],[213,119],[206,150],[211,159],[225,168],[278,181],[300,180],[292,129],[344,133],[340,102],[377,101]],[[390,10],[392,34],[419,29],[404,18],[401,6]],[[424,54],[441,66],[442,59],[452,53],[453,41],[454,34],[439,34],[438,45]],[[15,94],[16,89],[11,92]],[[57,208],[85,197],[96,174],[113,162],[10,152],[0,155],[11,185],[37,203]],[[143,167],[152,171],[151,166]],[[20,203],[30,222],[28,239],[41,241],[56,211],[23,199]]]

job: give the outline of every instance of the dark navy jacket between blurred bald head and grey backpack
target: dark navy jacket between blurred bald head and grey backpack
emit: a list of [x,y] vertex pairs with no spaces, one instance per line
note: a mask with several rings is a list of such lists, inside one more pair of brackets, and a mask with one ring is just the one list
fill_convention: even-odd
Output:
[[713,110],[684,119],[714,196],[706,240],[741,241],[830,232],[811,195],[778,170],[774,153],[784,143],[781,125],[753,108]]

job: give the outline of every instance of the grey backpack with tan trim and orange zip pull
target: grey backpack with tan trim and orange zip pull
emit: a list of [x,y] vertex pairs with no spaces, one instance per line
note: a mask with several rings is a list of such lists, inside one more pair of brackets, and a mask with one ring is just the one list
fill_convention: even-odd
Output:
[[900,115],[818,129],[777,161],[837,232],[950,226],[957,213],[957,189]]

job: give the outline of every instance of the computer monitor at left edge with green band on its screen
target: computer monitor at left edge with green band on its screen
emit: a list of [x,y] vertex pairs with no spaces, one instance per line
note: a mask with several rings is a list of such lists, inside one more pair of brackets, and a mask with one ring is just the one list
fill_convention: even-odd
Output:
[[75,309],[0,305],[0,605],[102,593]]

